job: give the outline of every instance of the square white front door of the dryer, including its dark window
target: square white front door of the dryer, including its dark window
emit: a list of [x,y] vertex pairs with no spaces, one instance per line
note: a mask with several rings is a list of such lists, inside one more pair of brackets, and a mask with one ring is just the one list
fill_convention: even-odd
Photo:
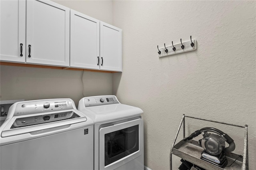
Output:
[[142,154],[142,119],[100,128],[100,170],[113,170]]

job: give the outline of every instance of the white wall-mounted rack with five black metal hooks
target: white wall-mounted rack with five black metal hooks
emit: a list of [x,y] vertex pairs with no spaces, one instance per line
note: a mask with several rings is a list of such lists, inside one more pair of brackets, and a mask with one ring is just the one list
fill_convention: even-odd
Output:
[[164,47],[158,48],[158,45],[157,45],[157,49],[158,49],[158,57],[165,57],[168,55],[194,51],[196,50],[196,39],[192,40],[192,37],[190,36],[189,41],[182,42],[182,39],[180,39],[180,43],[173,44],[173,41],[172,41],[172,45],[167,47],[164,43]]

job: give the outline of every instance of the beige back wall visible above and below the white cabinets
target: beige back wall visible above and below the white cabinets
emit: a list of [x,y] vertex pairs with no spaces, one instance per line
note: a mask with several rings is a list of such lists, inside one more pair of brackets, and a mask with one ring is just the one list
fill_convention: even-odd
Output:
[[[112,1],[54,0],[73,10],[112,24]],[[112,73],[0,67],[0,100],[71,98],[78,106],[84,96],[112,95]],[[84,83],[84,88],[83,84]],[[84,92],[84,93],[83,93]]]

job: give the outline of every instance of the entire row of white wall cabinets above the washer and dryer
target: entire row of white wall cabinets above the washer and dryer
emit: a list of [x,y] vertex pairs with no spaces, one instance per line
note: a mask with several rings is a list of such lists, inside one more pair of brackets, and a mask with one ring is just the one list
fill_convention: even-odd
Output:
[[0,61],[122,71],[122,30],[50,0],[0,0]]

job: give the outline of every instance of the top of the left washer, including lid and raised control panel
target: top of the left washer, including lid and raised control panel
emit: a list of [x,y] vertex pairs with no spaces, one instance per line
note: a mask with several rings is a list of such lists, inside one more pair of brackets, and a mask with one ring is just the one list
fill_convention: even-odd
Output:
[[[50,128],[67,127],[83,122],[93,125],[79,112],[72,99],[42,99],[14,103],[0,127],[1,137],[34,134]],[[81,125],[81,126],[84,126]]]

